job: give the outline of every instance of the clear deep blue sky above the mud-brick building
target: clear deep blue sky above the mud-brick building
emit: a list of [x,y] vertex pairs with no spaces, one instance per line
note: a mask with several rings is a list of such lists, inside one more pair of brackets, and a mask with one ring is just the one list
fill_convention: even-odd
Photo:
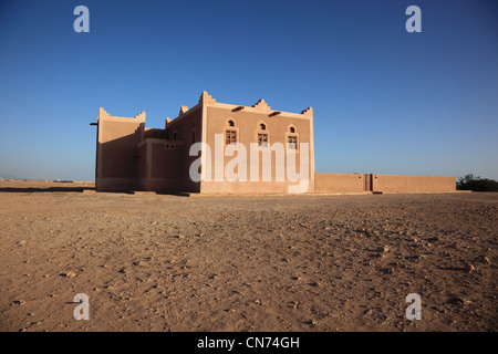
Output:
[[312,106],[317,171],[498,179],[498,1],[0,2],[0,177],[93,180],[98,107],[163,127],[204,90]]

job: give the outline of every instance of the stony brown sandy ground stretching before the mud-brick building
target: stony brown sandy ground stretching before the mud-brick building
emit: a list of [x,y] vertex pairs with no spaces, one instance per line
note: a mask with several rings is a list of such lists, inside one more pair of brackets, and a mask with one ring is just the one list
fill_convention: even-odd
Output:
[[[0,181],[1,331],[497,330],[498,194],[89,186]],[[77,293],[89,321],[73,316]]]

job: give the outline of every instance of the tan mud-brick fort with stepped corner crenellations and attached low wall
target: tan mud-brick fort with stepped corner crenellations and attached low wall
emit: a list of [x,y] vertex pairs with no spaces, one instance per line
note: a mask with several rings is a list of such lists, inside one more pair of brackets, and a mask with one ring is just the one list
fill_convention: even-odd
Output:
[[[290,186],[299,184],[279,178],[276,152],[270,153],[271,162],[267,160],[267,165],[271,164],[271,178],[262,176],[263,158],[257,162],[259,176],[249,177],[255,166],[250,166],[253,162],[248,158],[247,178],[218,178],[216,170],[227,167],[234,158],[215,156],[212,147],[219,144],[220,136],[224,146],[241,143],[264,149],[280,143],[287,153],[294,154],[297,171],[307,171],[301,175],[308,176],[304,190],[308,194],[455,191],[455,177],[315,173],[311,107],[288,113],[272,110],[264,100],[249,107],[219,103],[203,92],[194,107],[181,106],[176,118],[166,118],[164,128],[146,128],[145,112],[135,117],[118,117],[104,108],[100,108],[96,125],[97,191],[288,194]],[[195,143],[205,144],[198,155],[190,156]],[[308,148],[301,149],[301,143],[308,143]],[[303,168],[299,164],[300,154],[307,154],[302,157],[307,157],[308,170],[300,170]],[[200,162],[199,180],[190,174],[196,160]]]

